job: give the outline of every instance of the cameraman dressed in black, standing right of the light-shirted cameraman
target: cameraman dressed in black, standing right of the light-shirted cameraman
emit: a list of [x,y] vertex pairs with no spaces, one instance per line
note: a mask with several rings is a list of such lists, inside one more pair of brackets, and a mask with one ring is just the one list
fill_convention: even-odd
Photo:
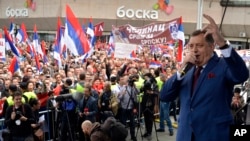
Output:
[[143,92],[141,111],[144,115],[146,132],[143,137],[150,137],[153,128],[154,106],[156,98],[159,94],[159,89],[157,81],[151,73],[146,73],[144,75],[144,79],[144,86],[141,89],[141,92]]

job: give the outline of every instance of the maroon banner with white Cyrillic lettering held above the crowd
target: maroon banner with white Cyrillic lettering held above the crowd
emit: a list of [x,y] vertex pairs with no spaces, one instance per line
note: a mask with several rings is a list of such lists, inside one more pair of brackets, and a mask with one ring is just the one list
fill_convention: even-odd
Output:
[[178,39],[178,27],[181,18],[161,23],[151,23],[143,27],[129,24],[113,27],[114,42],[137,45],[166,44]]

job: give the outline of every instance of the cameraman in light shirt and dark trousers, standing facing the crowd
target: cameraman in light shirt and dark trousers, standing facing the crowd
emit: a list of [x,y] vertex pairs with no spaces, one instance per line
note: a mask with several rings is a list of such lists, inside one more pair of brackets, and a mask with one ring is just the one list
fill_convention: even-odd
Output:
[[126,121],[129,120],[130,127],[130,136],[131,140],[137,141],[135,136],[135,119],[134,114],[137,113],[137,94],[139,90],[135,87],[134,82],[139,78],[138,75],[131,75],[129,78],[124,76],[124,79],[127,80],[125,87],[121,88],[121,91],[118,93],[118,99],[121,104],[121,119],[120,121],[126,125]]

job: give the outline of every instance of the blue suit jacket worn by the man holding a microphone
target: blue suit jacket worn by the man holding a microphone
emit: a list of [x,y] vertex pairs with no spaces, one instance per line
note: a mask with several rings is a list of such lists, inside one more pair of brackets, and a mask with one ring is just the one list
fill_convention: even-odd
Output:
[[229,58],[216,53],[208,61],[191,96],[195,67],[182,80],[173,75],[163,86],[161,100],[180,97],[180,115],[177,141],[229,141],[229,126],[233,123],[230,103],[233,87],[247,80],[248,69],[232,49]]

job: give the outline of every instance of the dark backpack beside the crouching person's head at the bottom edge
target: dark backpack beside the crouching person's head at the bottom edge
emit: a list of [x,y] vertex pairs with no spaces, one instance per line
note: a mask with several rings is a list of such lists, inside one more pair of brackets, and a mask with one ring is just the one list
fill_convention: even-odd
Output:
[[114,117],[107,118],[101,125],[101,130],[111,138],[111,141],[125,141],[128,136],[125,125],[116,121]]

